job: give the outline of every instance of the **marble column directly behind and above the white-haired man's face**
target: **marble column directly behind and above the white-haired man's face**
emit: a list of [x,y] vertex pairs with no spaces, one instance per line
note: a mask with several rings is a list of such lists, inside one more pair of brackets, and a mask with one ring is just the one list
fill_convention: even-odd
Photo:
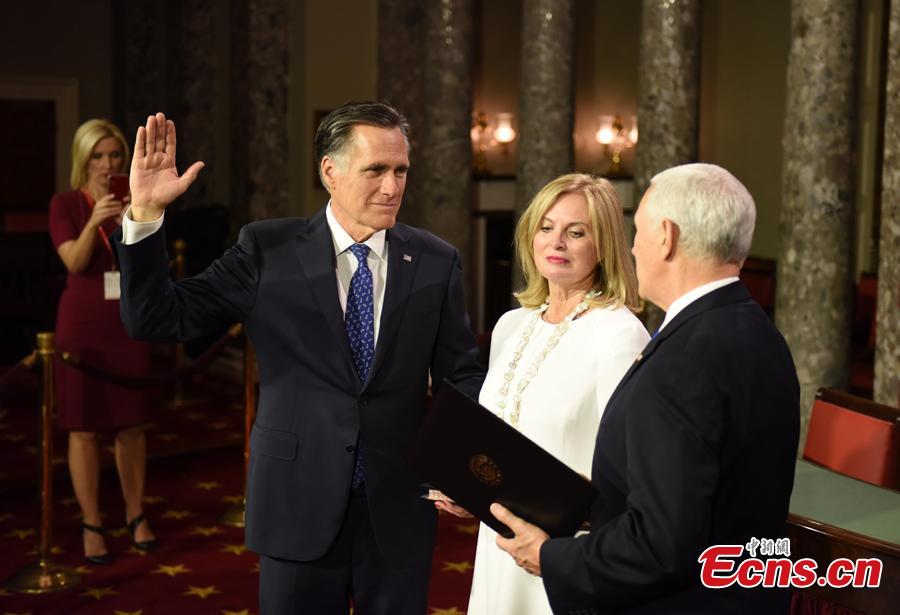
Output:
[[[638,77],[634,194],[639,202],[660,171],[697,161],[700,83],[700,1],[644,0]],[[650,331],[664,313],[648,303]]]

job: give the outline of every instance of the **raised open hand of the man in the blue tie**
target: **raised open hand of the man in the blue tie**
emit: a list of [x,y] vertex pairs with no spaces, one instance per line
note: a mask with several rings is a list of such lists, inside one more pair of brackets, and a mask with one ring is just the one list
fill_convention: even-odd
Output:
[[158,219],[197,179],[203,163],[195,162],[179,177],[175,149],[175,123],[163,113],[148,116],[147,125],[138,128],[131,160],[131,217],[135,220]]

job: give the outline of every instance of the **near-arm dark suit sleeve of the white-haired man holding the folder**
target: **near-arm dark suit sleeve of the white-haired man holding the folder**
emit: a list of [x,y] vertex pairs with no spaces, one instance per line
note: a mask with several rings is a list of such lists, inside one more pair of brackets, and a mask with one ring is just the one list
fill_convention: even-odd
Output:
[[713,522],[724,401],[687,357],[651,360],[634,393],[617,400],[627,404],[625,512],[587,535],[541,548],[554,612],[616,611],[698,579],[697,557],[709,546]]

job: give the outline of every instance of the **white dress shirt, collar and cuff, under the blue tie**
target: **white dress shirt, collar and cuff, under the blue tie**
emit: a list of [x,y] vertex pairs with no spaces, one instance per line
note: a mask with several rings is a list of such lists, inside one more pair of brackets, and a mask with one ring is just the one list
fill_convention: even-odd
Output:
[[[131,217],[131,209],[125,212],[122,218],[122,243],[132,245],[149,237],[163,225],[165,213],[158,220],[152,222],[138,222]],[[335,278],[337,279],[338,299],[341,302],[341,311],[347,312],[347,293],[350,291],[350,280],[356,273],[359,263],[349,248],[355,241],[350,234],[338,223],[331,211],[331,201],[325,208],[325,219],[331,231],[331,240],[334,245],[334,254],[337,267]],[[381,324],[381,308],[384,305],[384,290],[387,286],[387,233],[380,230],[365,242],[369,246],[369,270],[372,272],[372,300],[375,310],[375,343],[378,343],[378,329]]]

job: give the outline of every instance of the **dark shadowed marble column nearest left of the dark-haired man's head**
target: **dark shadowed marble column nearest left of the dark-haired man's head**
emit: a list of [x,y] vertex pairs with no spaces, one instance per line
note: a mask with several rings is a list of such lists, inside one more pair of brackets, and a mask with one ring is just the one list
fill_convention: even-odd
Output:
[[238,222],[287,214],[288,0],[232,6],[232,187]]

